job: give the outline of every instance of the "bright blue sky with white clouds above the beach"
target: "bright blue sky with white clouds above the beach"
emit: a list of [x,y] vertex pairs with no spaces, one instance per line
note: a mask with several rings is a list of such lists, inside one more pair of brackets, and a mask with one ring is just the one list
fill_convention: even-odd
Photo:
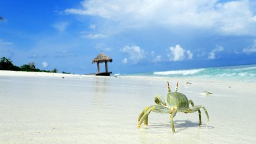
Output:
[[[113,74],[256,63],[256,1],[0,1],[0,57]],[[104,71],[104,64],[100,65]]]

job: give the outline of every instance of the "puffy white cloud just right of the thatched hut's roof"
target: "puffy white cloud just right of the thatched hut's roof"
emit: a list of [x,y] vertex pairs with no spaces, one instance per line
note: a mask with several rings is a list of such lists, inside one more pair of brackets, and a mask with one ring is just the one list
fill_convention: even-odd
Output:
[[133,64],[137,64],[141,60],[143,60],[146,56],[145,52],[143,49],[140,49],[139,46],[124,46],[122,49],[120,49],[121,52],[126,53],[129,55],[129,58],[126,58],[126,62],[132,61]]

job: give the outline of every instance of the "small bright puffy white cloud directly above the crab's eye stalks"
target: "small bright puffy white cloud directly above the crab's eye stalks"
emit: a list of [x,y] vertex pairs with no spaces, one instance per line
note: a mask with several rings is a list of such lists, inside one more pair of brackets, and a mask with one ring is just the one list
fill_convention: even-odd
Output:
[[182,61],[186,58],[185,52],[188,59],[192,59],[193,53],[182,49],[182,47],[177,44],[175,47],[169,47],[170,53],[167,54],[169,61]]

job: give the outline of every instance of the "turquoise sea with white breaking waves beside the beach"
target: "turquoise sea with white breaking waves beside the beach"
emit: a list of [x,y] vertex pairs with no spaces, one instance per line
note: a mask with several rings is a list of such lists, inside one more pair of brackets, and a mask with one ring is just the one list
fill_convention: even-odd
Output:
[[148,73],[124,75],[157,77],[202,77],[209,79],[256,82],[256,64],[184,70],[153,71]]

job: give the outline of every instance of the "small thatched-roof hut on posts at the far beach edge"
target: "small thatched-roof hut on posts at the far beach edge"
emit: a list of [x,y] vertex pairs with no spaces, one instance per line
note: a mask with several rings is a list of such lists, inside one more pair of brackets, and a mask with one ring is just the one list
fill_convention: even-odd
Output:
[[[106,54],[100,52],[100,53],[98,54],[98,56],[97,56],[96,58],[94,58],[93,61],[92,61],[92,63],[97,62],[98,74],[96,74],[96,75],[110,76],[110,74],[111,74],[112,72],[109,72],[109,71],[108,71],[108,62],[112,62],[112,61],[113,61],[113,60],[112,60],[111,57],[109,57],[109,56],[107,56]],[[99,63],[102,63],[102,62],[105,63],[105,70],[106,70],[105,73],[100,73]]]

